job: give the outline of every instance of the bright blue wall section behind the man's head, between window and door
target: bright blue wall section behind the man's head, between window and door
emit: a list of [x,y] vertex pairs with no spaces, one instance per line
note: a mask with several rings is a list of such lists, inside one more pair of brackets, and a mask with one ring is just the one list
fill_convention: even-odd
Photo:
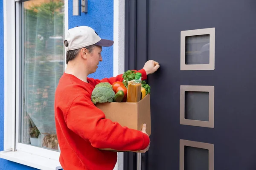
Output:
[[[69,28],[90,26],[102,39],[113,40],[113,0],[88,0],[88,12],[73,16],[73,0],[69,0]],[[88,77],[103,79],[113,76],[113,45],[102,47],[99,68]]]

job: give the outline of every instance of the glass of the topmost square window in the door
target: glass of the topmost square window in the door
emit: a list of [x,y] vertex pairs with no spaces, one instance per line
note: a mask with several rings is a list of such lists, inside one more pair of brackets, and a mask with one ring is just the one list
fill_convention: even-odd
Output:
[[210,35],[186,37],[185,64],[209,64]]

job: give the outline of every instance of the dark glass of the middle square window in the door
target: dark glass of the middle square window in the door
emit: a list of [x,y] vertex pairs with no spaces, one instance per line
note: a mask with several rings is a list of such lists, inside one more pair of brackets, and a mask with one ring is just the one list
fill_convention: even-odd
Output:
[[209,121],[209,92],[185,91],[185,119]]

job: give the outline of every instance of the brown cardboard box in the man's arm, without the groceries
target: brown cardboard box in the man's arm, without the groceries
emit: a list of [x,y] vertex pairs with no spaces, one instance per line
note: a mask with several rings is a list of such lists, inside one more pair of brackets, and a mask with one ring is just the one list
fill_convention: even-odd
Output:
[[151,135],[150,94],[147,94],[137,103],[98,103],[96,107],[105,113],[107,119],[118,122],[121,126],[141,130],[145,123],[147,125],[146,133],[148,136]]

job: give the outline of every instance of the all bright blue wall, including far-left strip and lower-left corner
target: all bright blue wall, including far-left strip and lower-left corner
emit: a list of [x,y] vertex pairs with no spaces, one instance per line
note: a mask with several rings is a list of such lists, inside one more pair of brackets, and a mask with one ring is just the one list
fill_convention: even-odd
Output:
[[[90,26],[101,38],[113,40],[113,0],[88,0],[88,13],[73,16],[73,0],[69,0],[69,28]],[[4,135],[4,48],[3,48],[3,0],[0,0],[0,151]],[[113,46],[102,48],[103,61],[96,73],[89,77],[102,79],[113,76]],[[0,159],[0,170],[36,170],[22,164]]]

